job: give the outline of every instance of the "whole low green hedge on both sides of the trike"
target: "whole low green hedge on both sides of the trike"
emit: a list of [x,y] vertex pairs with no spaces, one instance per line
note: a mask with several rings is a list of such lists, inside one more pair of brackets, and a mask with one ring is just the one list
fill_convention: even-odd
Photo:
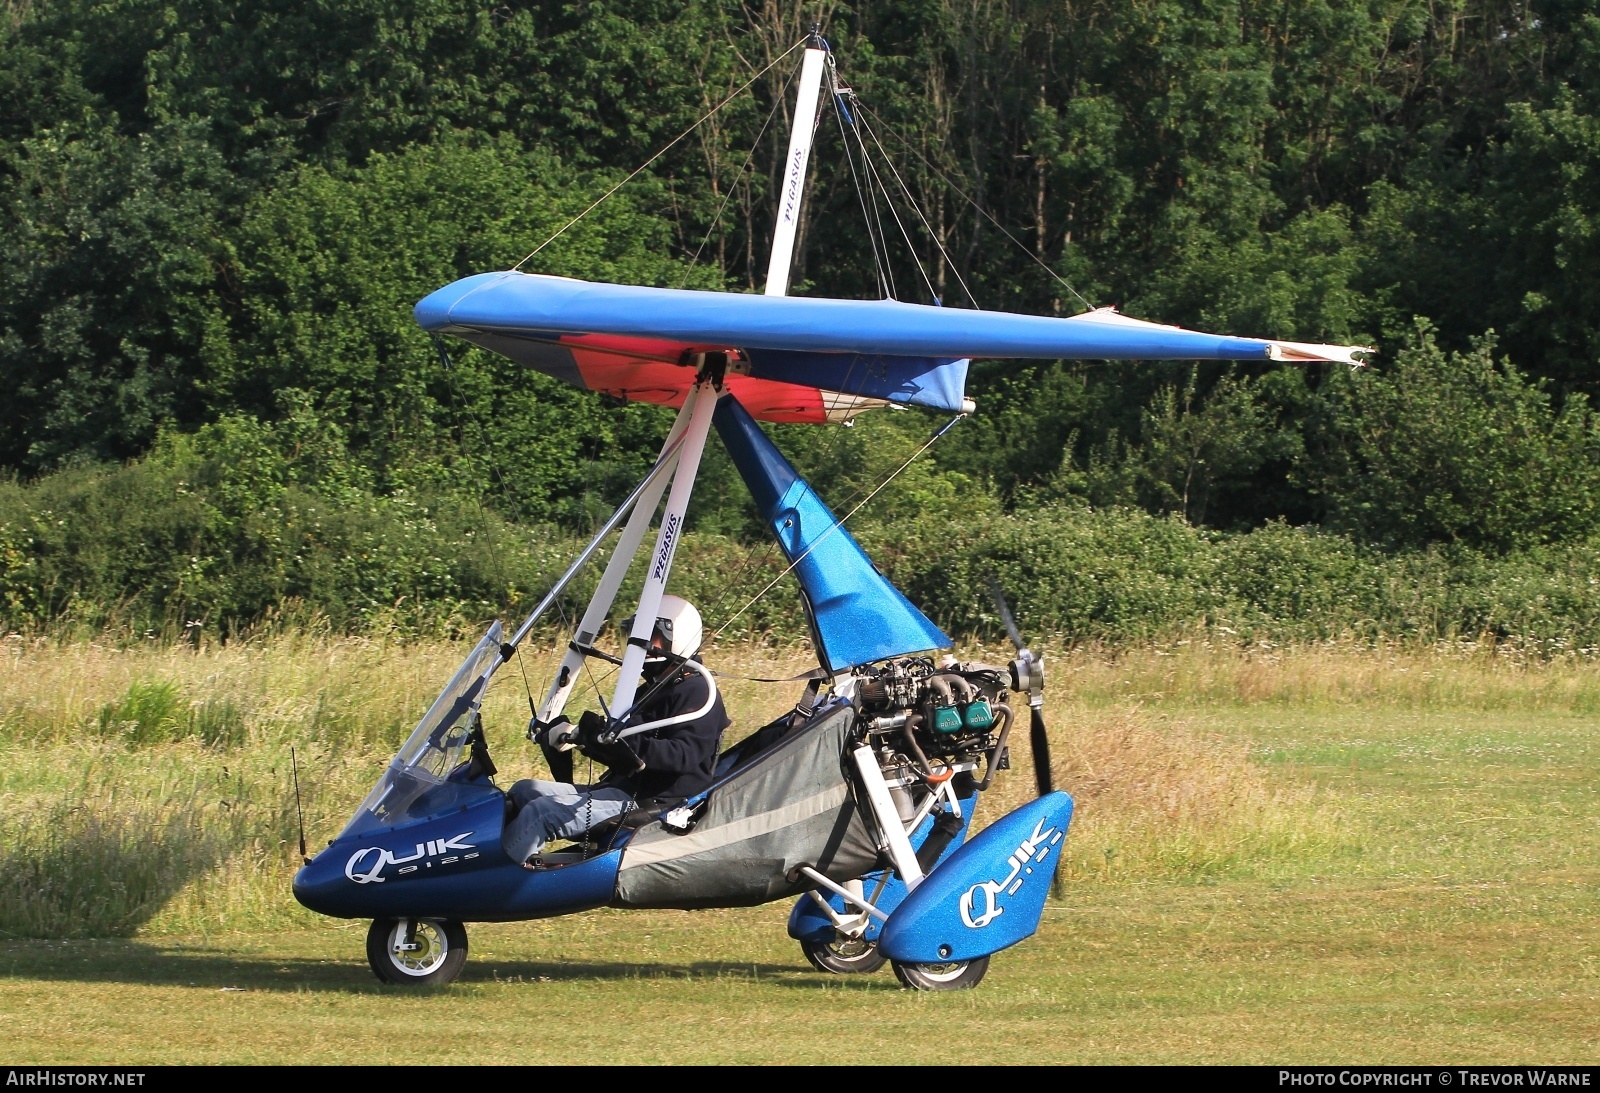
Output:
[[[192,640],[309,621],[339,632],[478,632],[491,616],[526,611],[582,546],[554,526],[509,523],[459,493],[381,496],[342,461],[336,430],[317,440],[318,429],[227,418],[163,438],[141,462],[0,483],[5,626],[120,626]],[[1070,502],[1002,514],[960,506],[946,477],[923,486],[910,494],[920,518],[872,522],[869,512],[854,530],[957,637],[1000,635],[987,589],[997,578],[1030,635],[1069,642],[1205,629],[1240,640],[1488,635],[1600,647],[1600,539],[1384,551],[1282,522],[1222,533],[1178,515]],[[549,627],[571,621],[568,605],[586,599],[600,565],[546,618]],[[784,573],[770,541],[696,531],[678,551],[674,589],[701,607],[720,640],[798,642],[805,624]],[[622,600],[638,579],[624,584]],[[173,733],[229,739],[226,711],[205,714],[200,727],[186,707],[171,728],[158,709],[168,699],[181,704],[130,691],[102,714],[102,731],[136,744]]]

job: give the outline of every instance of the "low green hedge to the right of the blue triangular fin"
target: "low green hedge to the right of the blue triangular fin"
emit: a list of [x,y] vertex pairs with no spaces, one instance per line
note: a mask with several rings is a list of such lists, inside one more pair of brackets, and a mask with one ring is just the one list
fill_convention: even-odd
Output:
[[1512,640],[1600,647],[1600,542],[1382,552],[1315,528],[1203,531],[1133,509],[994,517],[893,575],[952,634],[1000,637],[997,578],[1032,640]]

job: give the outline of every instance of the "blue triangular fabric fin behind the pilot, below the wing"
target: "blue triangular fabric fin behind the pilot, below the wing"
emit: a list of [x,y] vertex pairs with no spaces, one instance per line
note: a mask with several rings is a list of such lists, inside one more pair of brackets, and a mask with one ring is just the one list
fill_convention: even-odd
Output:
[[878,573],[733,395],[723,395],[712,421],[757,510],[795,563],[822,667],[842,672],[885,656],[950,647],[944,631]]

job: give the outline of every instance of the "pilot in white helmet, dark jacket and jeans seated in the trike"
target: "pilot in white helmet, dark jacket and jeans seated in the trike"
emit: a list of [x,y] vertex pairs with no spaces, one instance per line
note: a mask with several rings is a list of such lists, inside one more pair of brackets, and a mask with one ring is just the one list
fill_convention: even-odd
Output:
[[[576,730],[566,719],[542,735],[550,744],[563,736],[581,754],[610,770],[594,786],[525,778],[510,787],[515,816],[501,845],[512,861],[533,864],[554,839],[578,839],[586,831],[634,808],[670,808],[710,786],[728,714],[704,669],[693,667],[701,645],[699,611],[677,595],[661,597],[656,626],[645,656],[640,699],[621,728],[656,725],[635,736],[602,741],[606,720],[586,711]],[[624,623],[632,631],[632,619]],[[672,656],[662,656],[670,653]]]

